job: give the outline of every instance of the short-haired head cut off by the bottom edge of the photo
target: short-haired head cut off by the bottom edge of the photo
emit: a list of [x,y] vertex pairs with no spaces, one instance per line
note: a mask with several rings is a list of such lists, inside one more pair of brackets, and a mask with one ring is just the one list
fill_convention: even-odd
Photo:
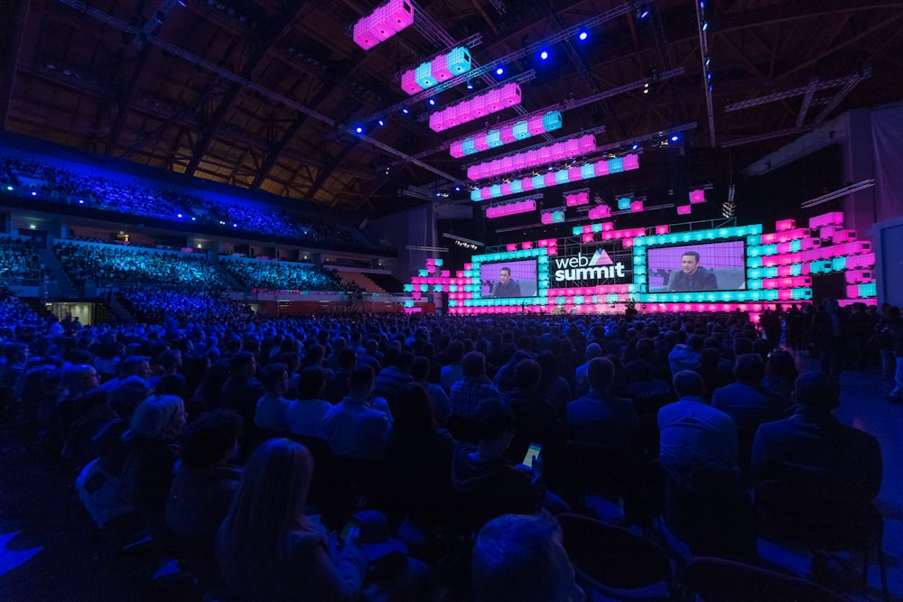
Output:
[[504,514],[483,525],[473,547],[476,602],[580,602],[585,598],[554,518]]

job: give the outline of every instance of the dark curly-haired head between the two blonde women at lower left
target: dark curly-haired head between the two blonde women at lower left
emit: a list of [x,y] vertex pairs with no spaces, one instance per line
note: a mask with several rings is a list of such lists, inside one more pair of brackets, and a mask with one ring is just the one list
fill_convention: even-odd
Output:
[[203,467],[227,461],[235,452],[241,427],[241,416],[235,410],[217,408],[201,414],[182,430],[182,464]]

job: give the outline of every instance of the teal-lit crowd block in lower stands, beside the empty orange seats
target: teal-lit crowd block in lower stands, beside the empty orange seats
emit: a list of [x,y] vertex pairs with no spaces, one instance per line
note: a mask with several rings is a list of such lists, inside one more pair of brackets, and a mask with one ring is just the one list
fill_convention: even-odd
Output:
[[238,282],[266,291],[344,291],[337,273],[309,264],[222,259],[219,262]]

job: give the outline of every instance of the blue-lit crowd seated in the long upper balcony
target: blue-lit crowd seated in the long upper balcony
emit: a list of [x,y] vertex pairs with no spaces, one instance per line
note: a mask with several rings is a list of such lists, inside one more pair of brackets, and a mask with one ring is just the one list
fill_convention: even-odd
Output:
[[39,162],[0,160],[0,183],[40,190],[42,198],[65,204],[101,208],[117,213],[162,218],[198,225],[228,227],[270,236],[311,242],[359,245],[348,229],[336,224],[305,221],[284,211],[86,175]]

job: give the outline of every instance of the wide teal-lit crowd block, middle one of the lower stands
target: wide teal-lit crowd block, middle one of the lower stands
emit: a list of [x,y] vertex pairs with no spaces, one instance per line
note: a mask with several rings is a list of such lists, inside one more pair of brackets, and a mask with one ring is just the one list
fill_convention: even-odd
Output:
[[200,255],[66,242],[54,245],[53,251],[73,283],[177,285],[190,291],[228,291],[231,288],[226,275]]

